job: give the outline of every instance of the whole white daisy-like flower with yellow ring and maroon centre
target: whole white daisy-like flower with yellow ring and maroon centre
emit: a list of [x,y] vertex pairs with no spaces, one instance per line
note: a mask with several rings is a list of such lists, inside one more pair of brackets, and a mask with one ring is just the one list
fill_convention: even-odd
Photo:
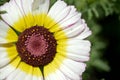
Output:
[[57,0],[0,6],[0,80],[81,80],[91,34],[74,6]]

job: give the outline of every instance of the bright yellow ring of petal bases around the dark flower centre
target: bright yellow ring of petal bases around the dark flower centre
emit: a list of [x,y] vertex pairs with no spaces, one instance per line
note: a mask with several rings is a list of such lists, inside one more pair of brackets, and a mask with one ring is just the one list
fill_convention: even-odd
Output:
[[[50,16],[48,16],[47,14],[44,14],[44,13],[43,14],[35,14],[35,15],[28,14],[28,15],[20,18],[18,21],[16,21],[13,25],[13,28],[20,32],[23,32],[25,29],[30,28],[35,25],[43,26],[52,33],[57,33],[58,30],[61,30],[61,32],[62,32],[60,24],[58,24]],[[12,35],[9,35],[10,33],[11,32],[9,31],[7,37],[12,36]],[[64,53],[62,53],[62,54],[64,54],[64,57],[60,57],[61,54],[59,54],[59,52],[56,53],[54,60],[44,67],[45,76],[47,76],[47,75],[55,72],[57,69],[59,69],[59,67],[61,66],[64,59],[66,59],[65,55],[67,54],[67,52],[66,52],[67,36],[65,35],[65,32],[62,32],[61,35],[63,35],[64,38],[66,38],[66,39],[62,40],[62,42],[64,43],[63,45],[59,45],[59,44],[57,45],[57,52],[62,48],[62,50],[64,51]],[[55,34],[54,34],[54,37],[56,40],[59,38],[59,36],[55,36]],[[59,40],[57,40],[57,41],[62,43]],[[12,48],[12,50],[14,51],[13,53],[18,53],[15,47]],[[10,53],[10,50],[7,50],[7,52]],[[56,60],[58,57],[60,59],[60,63],[56,65]],[[13,64],[11,64],[11,65],[13,65]],[[50,65],[55,65],[55,68],[51,68]],[[42,73],[40,71],[38,71],[38,70],[40,70],[38,67],[32,68],[31,65],[28,65],[24,62],[20,62],[18,68],[20,70],[26,72],[27,74],[31,74],[34,76],[42,76]],[[32,70],[33,70],[33,73],[31,72]]]

